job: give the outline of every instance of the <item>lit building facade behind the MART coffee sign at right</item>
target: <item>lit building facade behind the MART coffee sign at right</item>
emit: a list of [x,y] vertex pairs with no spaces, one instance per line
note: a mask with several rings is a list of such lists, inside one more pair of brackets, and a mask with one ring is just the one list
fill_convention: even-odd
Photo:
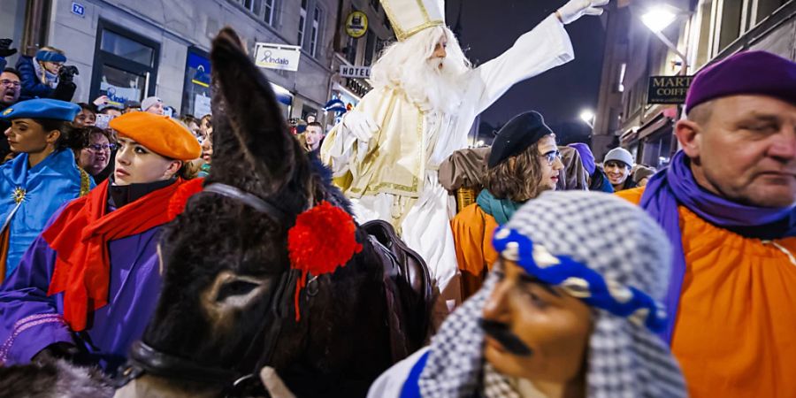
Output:
[[[655,6],[675,12],[661,34],[677,51],[641,21]],[[595,157],[622,146],[637,163],[661,167],[677,150],[673,127],[683,110],[680,104],[648,103],[650,76],[691,76],[741,50],[796,60],[796,0],[624,0],[608,12],[607,31]]]

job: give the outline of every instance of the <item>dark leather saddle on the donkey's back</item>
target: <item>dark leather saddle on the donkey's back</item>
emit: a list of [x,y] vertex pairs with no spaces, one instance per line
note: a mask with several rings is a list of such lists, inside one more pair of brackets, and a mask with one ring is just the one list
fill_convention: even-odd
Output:
[[392,225],[373,220],[361,226],[370,235],[384,266],[388,325],[394,362],[422,348],[428,339],[432,313],[432,281],[416,251],[398,237]]

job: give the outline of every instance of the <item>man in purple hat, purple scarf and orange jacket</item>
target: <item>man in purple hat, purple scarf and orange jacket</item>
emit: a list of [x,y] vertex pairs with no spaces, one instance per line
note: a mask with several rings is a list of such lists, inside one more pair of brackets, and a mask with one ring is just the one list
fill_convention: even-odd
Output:
[[762,51],[700,71],[682,150],[620,194],[675,250],[663,333],[693,397],[796,392],[796,63]]

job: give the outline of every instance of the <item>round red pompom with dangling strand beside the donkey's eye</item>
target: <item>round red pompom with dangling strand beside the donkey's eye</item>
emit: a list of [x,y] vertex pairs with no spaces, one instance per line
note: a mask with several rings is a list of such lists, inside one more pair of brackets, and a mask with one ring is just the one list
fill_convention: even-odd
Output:
[[360,251],[354,219],[345,210],[324,201],[295,218],[295,226],[287,232],[287,253],[291,267],[302,272],[295,284],[296,322],[301,319],[299,295],[307,285],[307,274],[334,272]]

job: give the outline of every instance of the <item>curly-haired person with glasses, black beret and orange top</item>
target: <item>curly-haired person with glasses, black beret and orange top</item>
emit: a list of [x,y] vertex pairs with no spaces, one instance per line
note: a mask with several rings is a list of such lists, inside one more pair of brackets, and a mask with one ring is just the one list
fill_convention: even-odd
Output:
[[451,220],[462,297],[475,294],[497,261],[492,233],[506,224],[523,203],[555,190],[563,169],[555,134],[536,111],[509,120],[494,138],[476,203]]

